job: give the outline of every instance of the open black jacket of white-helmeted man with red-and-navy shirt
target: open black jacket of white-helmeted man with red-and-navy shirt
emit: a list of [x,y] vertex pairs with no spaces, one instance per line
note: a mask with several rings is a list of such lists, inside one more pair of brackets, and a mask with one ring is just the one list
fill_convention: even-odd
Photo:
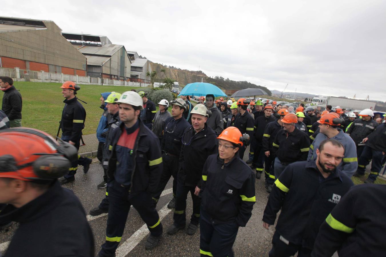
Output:
[[[131,173],[129,192],[147,191],[152,195],[157,190],[162,173],[161,149],[156,135],[140,119],[138,121],[139,132],[137,139],[135,139],[133,152],[131,153],[134,159],[134,166]],[[105,143],[107,151],[103,155],[103,165],[108,165],[107,175],[109,180],[114,179],[114,171],[117,167],[115,146],[122,134],[122,130],[125,130],[125,124],[120,121],[117,128],[110,128],[107,135]]]

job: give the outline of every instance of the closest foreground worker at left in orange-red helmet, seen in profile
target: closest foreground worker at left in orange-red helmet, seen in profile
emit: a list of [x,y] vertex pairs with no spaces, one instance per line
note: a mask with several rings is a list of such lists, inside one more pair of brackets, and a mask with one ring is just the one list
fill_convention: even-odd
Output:
[[0,223],[17,221],[3,256],[94,257],[85,210],[58,178],[68,173],[77,149],[30,128],[0,131]]

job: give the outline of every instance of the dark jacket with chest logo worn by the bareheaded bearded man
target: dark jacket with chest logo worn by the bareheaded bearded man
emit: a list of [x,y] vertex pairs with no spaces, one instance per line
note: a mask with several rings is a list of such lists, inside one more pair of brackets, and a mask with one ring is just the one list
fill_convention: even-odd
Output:
[[292,163],[275,181],[263,221],[273,225],[281,208],[276,231],[289,242],[312,249],[320,225],[353,185],[340,170],[323,178],[315,160]]

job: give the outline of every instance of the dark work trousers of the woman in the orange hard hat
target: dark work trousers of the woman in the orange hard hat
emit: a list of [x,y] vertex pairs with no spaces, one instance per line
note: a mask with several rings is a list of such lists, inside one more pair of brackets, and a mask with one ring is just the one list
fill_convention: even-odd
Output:
[[201,208],[200,254],[203,257],[233,257],[232,246],[236,240],[239,225],[236,222],[215,224]]

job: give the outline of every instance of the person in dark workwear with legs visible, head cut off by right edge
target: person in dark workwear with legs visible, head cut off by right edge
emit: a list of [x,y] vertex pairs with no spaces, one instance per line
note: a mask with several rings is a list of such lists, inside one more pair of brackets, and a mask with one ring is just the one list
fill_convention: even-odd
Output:
[[386,153],[386,123],[381,123],[377,128],[363,139],[365,146],[362,154],[359,157],[358,169],[354,176],[364,176],[366,166],[371,161],[370,175],[364,181],[365,183],[374,183],[377,179],[379,172],[382,169]]

